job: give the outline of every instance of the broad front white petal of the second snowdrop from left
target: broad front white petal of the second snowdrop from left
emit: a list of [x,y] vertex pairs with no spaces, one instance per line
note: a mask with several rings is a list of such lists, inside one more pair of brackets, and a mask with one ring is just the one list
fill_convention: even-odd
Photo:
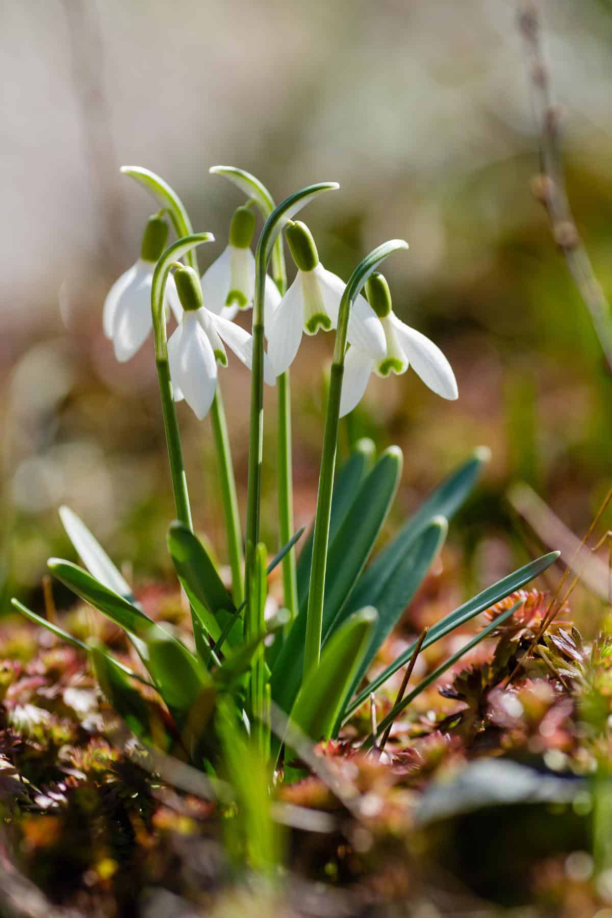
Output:
[[206,418],[217,389],[217,360],[206,331],[186,313],[177,345],[178,385],[195,417]]

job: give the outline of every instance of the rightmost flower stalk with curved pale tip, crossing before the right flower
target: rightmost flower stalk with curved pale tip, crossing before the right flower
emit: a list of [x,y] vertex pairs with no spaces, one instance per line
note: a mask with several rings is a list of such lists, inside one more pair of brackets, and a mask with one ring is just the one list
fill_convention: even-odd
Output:
[[351,308],[362,291],[363,285],[378,265],[392,252],[407,249],[404,240],[391,240],[379,245],[357,265],[340,299],[338,327],[334,344],[334,356],[329,374],[328,410],[323,434],[323,451],[318,477],[317,512],[313,537],[312,564],[308,588],[308,609],[306,617],[306,645],[304,650],[304,678],[311,669],[318,668],[321,656],[321,633],[323,625],[323,602],[325,599],[325,576],[328,562],[329,520],[331,516],[331,495],[338,450],[338,426],[344,357],[347,349],[347,334]]

